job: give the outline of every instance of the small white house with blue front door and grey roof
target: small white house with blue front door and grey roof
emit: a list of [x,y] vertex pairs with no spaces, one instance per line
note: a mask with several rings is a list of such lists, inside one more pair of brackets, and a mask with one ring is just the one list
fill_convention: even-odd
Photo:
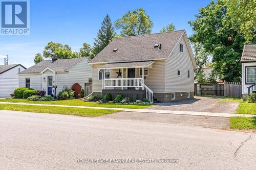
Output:
[[55,95],[55,91],[57,95],[63,87],[71,88],[75,83],[84,88],[84,83],[92,79],[90,60],[88,57],[43,60],[18,74],[19,87],[44,90],[46,95]]

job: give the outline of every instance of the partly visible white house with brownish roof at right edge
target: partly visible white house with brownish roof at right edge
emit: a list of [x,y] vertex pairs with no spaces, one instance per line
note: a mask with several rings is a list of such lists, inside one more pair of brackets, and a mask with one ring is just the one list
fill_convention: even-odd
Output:
[[256,90],[256,44],[244,45],[242,63],[242,94]]

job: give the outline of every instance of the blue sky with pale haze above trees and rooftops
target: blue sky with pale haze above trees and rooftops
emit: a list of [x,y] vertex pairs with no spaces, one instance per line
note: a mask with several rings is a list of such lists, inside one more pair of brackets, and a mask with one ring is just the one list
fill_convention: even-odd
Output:
[[[79,51],[84,42],[93,45],[102,19],[109,14],[112,22],[129,10],[143,8],[153,21],[152,33],[173,23],[176,30],[185,29],[193,34],[189,20],[195,20],[198,10],[210,0],[30,0],[30,35],[0,36],[1,55],[9,55],[9,64],[34,65],[36,53],[42,53],[48,42],[68,44],[72,51]],[[118,30],[116,30],[118,33]]]

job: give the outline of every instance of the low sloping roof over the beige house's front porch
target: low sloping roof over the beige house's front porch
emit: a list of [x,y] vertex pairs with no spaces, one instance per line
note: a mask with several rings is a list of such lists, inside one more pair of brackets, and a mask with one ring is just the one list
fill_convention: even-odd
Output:
[[114,69],[114,68],[141,68],[149,67],[154,61],[139,61],[139,62],[122,62],[122,63],[108,63],[101,66],[99,69]]

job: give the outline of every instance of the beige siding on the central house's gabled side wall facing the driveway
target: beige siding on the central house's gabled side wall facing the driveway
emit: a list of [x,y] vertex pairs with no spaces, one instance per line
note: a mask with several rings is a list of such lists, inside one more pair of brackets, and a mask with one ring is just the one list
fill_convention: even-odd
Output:
[[[194,79],[187,78],[187,71],[194,70],[194,66],[188,52],[189,46],[184,38],[185,35],[165,61],[165,93],[194,91]],[[180,52],[180,43],[183,44],[183,53]],[[180,76],[177,76],[178,70],[180,70]]]

